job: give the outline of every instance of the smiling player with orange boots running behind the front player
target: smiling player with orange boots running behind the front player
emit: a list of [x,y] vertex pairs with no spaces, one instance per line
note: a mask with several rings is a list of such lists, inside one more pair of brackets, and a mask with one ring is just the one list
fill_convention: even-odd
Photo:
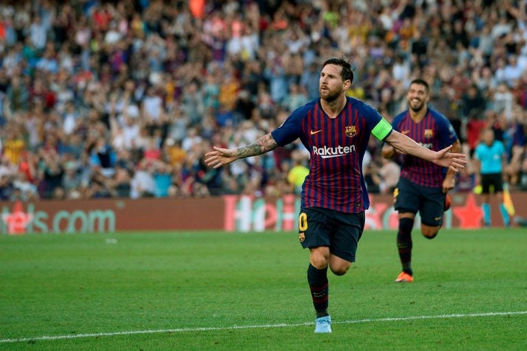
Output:
[[[452,146],[452,152],[460,152],[461,144],[449,120],[441,113],[430,109],[428,83],[422,79],[410,82],[408,110],[399,113],[392,125],[398,131],[414,139],[430,150],[441,150]],[[382,156],[390,159],[395,155],[393,146],[385,144]],[[399,212],[397,250],[403,271],[395,282],[412,282],[412,228],[415,214],[421,215],[421,234],[433,239],[443,224],[443,212],[449,207],[447,193],[455,185],[456,170],[445,170],[437,163],[404,155],[399,183],[394,191],[395,210]]]

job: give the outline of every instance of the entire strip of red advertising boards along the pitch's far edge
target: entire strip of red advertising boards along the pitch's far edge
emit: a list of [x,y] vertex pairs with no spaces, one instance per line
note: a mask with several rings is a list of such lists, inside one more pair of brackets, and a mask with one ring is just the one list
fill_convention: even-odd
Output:
[[[513,193],[515,214],[527,217],[527,193]],[[491,203],[492,223],[502,220],[496,199]],[[116,231],[295,231],[300,199],[221,196],[204,199],[100,199],[0,203],[1,234],[100,233]],[[474,194],[452,194],[445,212],[448,228],[483,225],[480,200]],[[418,216],[419,220],[419,216]],[[392,196],[371,196],[366,229],[396,229]]]

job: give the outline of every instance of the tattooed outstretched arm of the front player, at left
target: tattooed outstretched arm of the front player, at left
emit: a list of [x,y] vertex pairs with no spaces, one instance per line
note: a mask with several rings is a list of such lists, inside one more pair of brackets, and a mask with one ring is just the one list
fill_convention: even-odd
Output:
[[268,133],[257,139],[253,144],[243,146],[242,148],[228,149],[214,146],[214,151],[205,154],[205,164],[209,167],[220,168],[237,159],[261,155],[277,147],[277,142],[274,141],[271,133]]

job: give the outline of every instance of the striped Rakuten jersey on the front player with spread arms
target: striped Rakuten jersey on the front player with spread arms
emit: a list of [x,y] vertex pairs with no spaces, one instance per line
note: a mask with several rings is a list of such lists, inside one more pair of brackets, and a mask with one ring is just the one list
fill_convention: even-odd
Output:
[[369,207],[362,159],[376,126],[377,130],[384,127],[381,133],[376,133],[382,139],[392,131],[377,110],[348,97],[336,118],[326,115],[320,99],[316,99],[293,111],[272,131],[280,146],[300,138],[310,152],[309,174],[302,185],[302,208],[324,207],[358,213]]

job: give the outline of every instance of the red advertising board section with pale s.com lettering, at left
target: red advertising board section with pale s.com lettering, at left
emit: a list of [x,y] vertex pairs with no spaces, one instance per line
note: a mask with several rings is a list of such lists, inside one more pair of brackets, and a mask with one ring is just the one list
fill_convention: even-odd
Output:
[[217,199],[97,199],[0,203],[2,234],[223,228]]

